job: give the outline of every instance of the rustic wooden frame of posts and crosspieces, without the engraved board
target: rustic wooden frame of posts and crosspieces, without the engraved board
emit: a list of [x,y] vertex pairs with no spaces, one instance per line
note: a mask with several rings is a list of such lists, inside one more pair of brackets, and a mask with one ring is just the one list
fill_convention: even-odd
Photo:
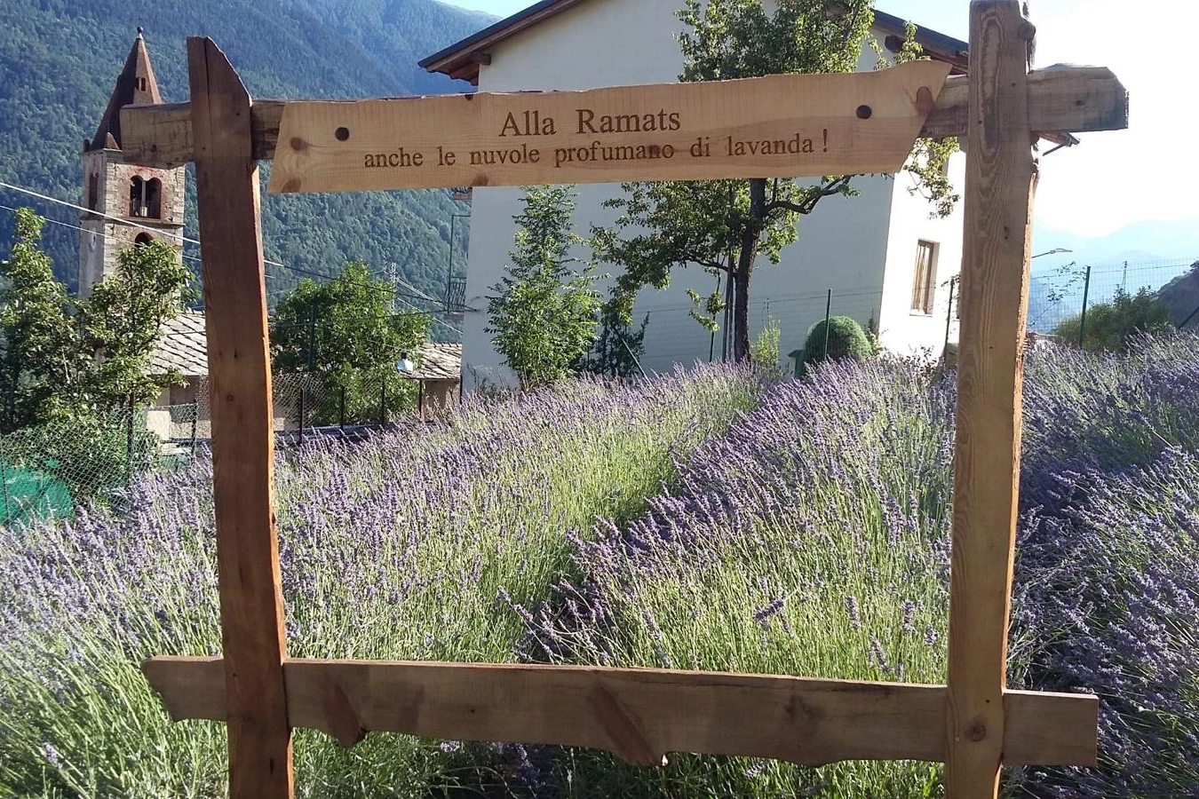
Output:
[[1017,0],[974,0],[969,77],[930,105],[916,98],[923,134],[968,140],[946,685],[287,658],[255,162],[273,156],[288,103],[252,102],[216,44],[189,40],[191,104],[127,108],[122,131],[129,161],[197,165],[224,656],[155,658],[144,671],[174,719],[228,724],[230,794],[293,795],[293,727],[347,746],[394,731],[594,746],[644,764],[671,751],[940,761],[953,799],[994,798],[1004,764],[1092,765],[1095,696],[1005,680],[1031,144],[1126,127],[1127,95],[1102,68],[1030,73],[1034,35]]

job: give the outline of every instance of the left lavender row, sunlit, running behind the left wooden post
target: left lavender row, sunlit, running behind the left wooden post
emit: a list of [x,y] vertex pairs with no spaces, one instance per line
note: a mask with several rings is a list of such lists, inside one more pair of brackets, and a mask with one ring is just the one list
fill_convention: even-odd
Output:
[[[579,381],[468,402],[440,428],[313,446],[277,464],[289,653],[506,661],[520,621],[495,598],[548,597],[566,531],[627,516],[754,402],[748,371],[638,388]],[[211,466],[152,476],[120,510],[0,539],[0,795],[216,797],[224,731],[170,724],[138,671],[219,650]],[[423,795],[505,757],[372,736],[296,742],[306,797]],[[488,759],[490,758],[490,759]],[[494,762],[493,762],[494,761]]]

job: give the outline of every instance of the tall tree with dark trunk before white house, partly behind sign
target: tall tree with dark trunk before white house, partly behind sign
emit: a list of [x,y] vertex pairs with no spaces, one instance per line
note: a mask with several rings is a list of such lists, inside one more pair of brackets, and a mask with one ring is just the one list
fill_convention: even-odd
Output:
[[[869,0],[845,0],[831,10],[825,0],[778,0],[771,14],[760,0],[687,0],[679,13],[688,30],[679,37],[683,81],[727,80],[775,73],[854,72],[867,41],[873,12]],[[920,56],[915,28],[908,26],[896,62]],[[880,61],[880,66],[882,62]],[[938,214],[952,210],[956,198],[942,165],[956,151],[954,140],[917,145],[908,169]],[[643,287],[664,289],[670,271],[693,265],[729,276],[734,357],[749,352],[749,283],[759,256],[778,264],[781,250],[795,242],[797,220],[829,196],[852,196],[850,175],[835,175],[813,186],[795,180],[725,180],[676,183],[626,183],[625,195],[607,202],[620,216],[615,228],[592,236],[602,261],[625,267],[610,304],[629,321]],[[693,297],[715,326],[722,298]]]

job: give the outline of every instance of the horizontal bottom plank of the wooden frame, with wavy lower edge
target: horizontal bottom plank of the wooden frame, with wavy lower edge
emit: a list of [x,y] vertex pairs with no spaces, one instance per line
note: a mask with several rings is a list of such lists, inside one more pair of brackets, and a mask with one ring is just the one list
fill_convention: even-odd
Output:
[[[284,661],[288,716],[343,745],[367,732],[586,746],[632,763],[668,752],[819,765],[945,757],[946,689],[771,674],[588,666]],[[218,658],[143,671],[175,720],[224,720]],[[1093,765],[1098,702],[1010,691],[1005,762]]]

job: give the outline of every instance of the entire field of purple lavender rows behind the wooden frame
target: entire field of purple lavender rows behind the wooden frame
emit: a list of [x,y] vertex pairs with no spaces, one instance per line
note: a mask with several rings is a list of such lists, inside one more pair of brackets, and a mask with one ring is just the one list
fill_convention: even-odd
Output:
[[[1102,768],[1012,795],[1199,795],[1199,339],[1029,363],[1013,685],[1099,694]],[[941,682],[953,385],[705,368],[469,404],[281,455],[289,650]],[[219,644],[211,473],[0,539],[0,797],[222,795],[223,730],[137,664]],[[299,732],[305,797],[939,795],[940,767]]]

